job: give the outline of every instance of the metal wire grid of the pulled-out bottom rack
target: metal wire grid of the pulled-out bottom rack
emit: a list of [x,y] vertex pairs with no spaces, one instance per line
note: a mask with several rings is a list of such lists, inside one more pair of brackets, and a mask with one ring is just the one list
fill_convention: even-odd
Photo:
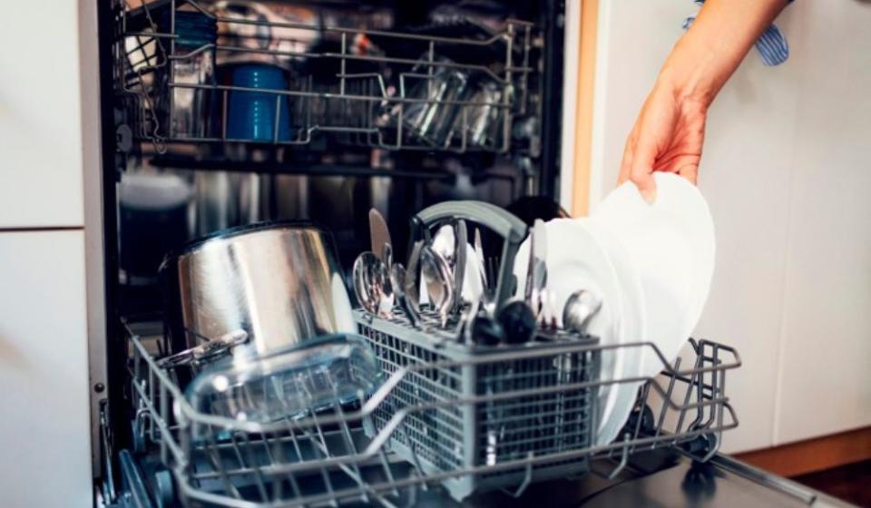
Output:
[[[446,398],[423,396],[423,399],[412,398],[408,405],[392,405],[392,394],[396,393],[398,386],[407,384],[412,376],[416,376],[414,379],[418,382],[426,379],[433,384],[443,379],[438,377],[440,373],[474,369],[479,373],[490,373],[478,377],[481,382],[478,386],[487,386],[505,380],[506,374],[501,366],[516,365],[517,362],[535,365],[537,359],[542,358],[601,354],[612,347],[558,342],[537,349],[497,350],[492,354],[458,361],[406,365],[389,376],[377,393],[367,398],[357,409],[348,410],[336,405],[329,414],[262,425],[197,413],[187,403],[172,376],[156,366],[141,337],[129,326],[128,333],[132,351],[132,398],[137,408],[135,434],[143,443],[143,448],[147,444],[156,446],[162,463],[171,469],[178,494],[183,500],[194,504],[252,507],[377,503],[397,506],[414,503],[423,489],[438,484],[450,488],[451,481],[455,479],[475,478],[476,487],[504,486],[501,481],[506,477],[506,472],[519,474],[514,493],[522,493],[527,484],[541,478],[539,473],[553,471],[563,465],[567,466],[566,470],[577,471],[579,461],[591,457],[611,457],[617,461],[612,474],[628,463],[631,454],[663,446],[676,446],[694,458],[707,460],[719,446],[719,435],[738,425],[729,399],[724,394],[725,372],[740,366],[737,352],[710,341],[691,340],[692,367],[680,370],[680,362],[669,366],[654,345],[639,342],[621,347],[648,348],[662,359],[664,378],[655,380],[639,377],[614,381],[643,383],[638,401],[640,411],[630,419],[620,440],[610,445],[573,445],[573,429],[585,426],[585,420],[580,416],[574,419],[571,411],[563,410],[562,416],[568,421],[567,425],[562,425],[566,432],[549,443],[558,442],[559,439],[569,440],[568,443],[552,445],[554,447],[550,450],[540,448],[537,454],[529,452],[522,456],[523,452],[516,447],[520,446],[521,441],[514,440],[514,449],[504,449],[500,452],[501,456],[497,455],[497,460],[487,464],[487,442],[484,441],[483,455],[480,451],[475,455],[478,460],[484,457],[483,464],[461,464],[445,467],[444,470],[428,470],[422,466],[423,447],[411,448],[410,460],[404,462],[397,461],[397,455],[401,454],[395,453],[395,445],[402,439],[406,443],[413,442],[409,440],[409,425],[406,422],[421,418],[420,415],[426,412],[441,411],[447,415],[446,408],[458,407],[461,415],[467,415],[464,411],[469,408],[469,411],[484,416],[484,420],[479,421],[481,426],[478,432],[485,435],[493,428],[493,425],[489,425],[492,421],[487,421],[488,410],[492,412],[494,408],[500,408],[511,411],[516,405],[521,417],[517,420],[503,419],[513,425],[514,422],[523,422],[524,415],[538,410],[534,402],[530,407],[518,401],[540,401],[542,397],[563,394],[563,398],[553,404],[556,407],[559,404],[571,407],[573,395],[580,391],[589,392],[605,382],[583,376],[577,378],[578,382],[573,382],[575,378],[571,374],[557,374],[561,381],[569,382],[556,386],[525,387],[524,382],[517,381],[513,389],[501,393]],[[558,372],[572,372],[566,366],[556,366],[556,369]],[[534,370],[531,368],[530,372]],[[582,369],[577,372],[581,374]],[[510,377],[518,380],[528,376]],[[541,378],[537,375],[533,377]],[[444,379],[455,379],[455,376]],[[451,383],[455,381],[446,385],[450,386]],[[543,418],[551,416],[547,411],[549,407],[549,404],[543,406]],[[385,408],[389,408],[392,416],[386,425],[376,429],[372,426],[373,420]],[[553,417],[561,417],[560,411],[553,413]],[[592,414],[588,413],[586,417]],[[445,422],[449,421],[445,418]],[[209,432],[194,439],[191,429],[195,425]],[[445,425],[442,428],[449,427]],[[366,428],[365,432],[363,428]],[[467,440],[469,436],[464,435],[463,439]],[[548,443],[541,440],[540,436],[536,436],[536,439],[541,447]],[[558,448],[563,451],[551,451]],[[436,455],[440,453],[437,450],[434,452]],[[494,478],[495,481],[492,481]]]

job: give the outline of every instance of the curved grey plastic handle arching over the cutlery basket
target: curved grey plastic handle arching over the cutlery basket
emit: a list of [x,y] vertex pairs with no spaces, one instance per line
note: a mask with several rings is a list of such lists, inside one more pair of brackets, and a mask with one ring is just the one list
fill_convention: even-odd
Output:
[[420,210],[411,218],[411,240],[414,242],[416,238],[428,234],[429,229],[438,222],[457,219],[480,224],[504,240],[495,292],[496,308],[501,308],[514,295],[514,257],[526,238],[526,224],[508,210],[484,201],[444,201]]

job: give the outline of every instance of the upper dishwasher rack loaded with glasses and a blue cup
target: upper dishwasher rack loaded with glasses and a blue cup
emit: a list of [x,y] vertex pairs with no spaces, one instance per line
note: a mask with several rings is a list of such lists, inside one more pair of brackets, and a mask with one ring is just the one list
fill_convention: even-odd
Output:
[[[182,11],[214,20],[214,42],[191,46],[179,33]],[[399,33],[222,15],[194,0],[170,0],[120,2],[115,26],[122,123],[133,139],[150,141],[159,152],[174,142],[308,145],[323,135],[386,150],[506,152],[516,132],[529,135],[529,127],[514,127],[531,109],[529,80],[540,54],[528,22],[506,20],[497,32],[475,25],[477,31],[458,31],[465,36],[445,36],[426,28]],[[213,72],[223,75],[182,79],[179,67],[196,67],[204,55],[213,55]],[[286,86],[240,84],[227,69],[244,62],[276,64]],[[176,132],[181,94],[208,103],[198,132]],[[268,98],[266,115],[275,128],[266,137],[234,130],[240,114],[234,107],[244,94],[244,100]]]

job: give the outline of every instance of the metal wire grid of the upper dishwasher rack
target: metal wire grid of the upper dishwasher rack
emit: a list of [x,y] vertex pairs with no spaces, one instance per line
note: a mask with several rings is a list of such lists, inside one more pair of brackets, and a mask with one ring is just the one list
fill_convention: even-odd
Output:
[[[330,34],[338,37],[341,49],[338,53],[310,51],[279,51],[273,49],[240,47],[232,44],[204,44],[201,47],[181,52],[177,51],[175,33],[175,10],[178,6],[189,5],[205,15],[213,17],[222,24],[253,24],[271,28],[291,28],[296,30]],[[329,133],[337,139],[351,144],[362,144],[386,150],[426,150],[426,151],[494,151],[506,152],[511,147],[511,128],[514,115],[523,115],[528,103],[528,79],[533,72],[531,62],[533,24],[508,20],[504,31],[486,40],[435,35],[404,34],[383,30],[365,30],[338,26],[311,26],[307,24],[275,23],[249,19],[226,18],[211,15],[196,0],[171,0],[168,8],[172,15],[170,31],[161,32],[157,23],[156,9],[142,0],[133,9],[126,1],[116,2],[115,22],[117,43],[115,44],[115,75],[118,93],[126,106],[132,122],[134,137],[149,140],[155,150],[166,150],[167,142],[264,142],[262,140],[233,139],[228,135],[228,111],[230,96],[233,93],[258,93],[275,99],[275,124],[290,122],[290,139],[279,139],[279,129],[274,130],[270,144],[300,145],[309,144],[318,133]],[[144,28],[129,29],[129,18],[135,15],[144,19]],[[353,41],[357,37],[377,36],[393,44],[426,44],[426,53],[419,60],[388,54],[354,54]],[[465,64],[444,61],[438,58],[439,48],[445,45],[461,47],[500,47],[504,46],[504,57],[493,64]],[[519,49],[519,52],[517,51]],[[190,61],[203,52],[221,52],[233,55],[271,55],[274,57],[325,59],[338,61],[339,72],[336,83],[315,85],[310,76],[297,75],[291,80],[289,90],[251,89],[217,83],[181,83],[174,79],[174,63]],[[389,91],[388,79],[384,71],[372,73],[350,73],[349,64],[370,63],[380,69],[389,67],[407,68],[411,72],[398,73],[397,92]],[[439,71],[453,70],[470,76],[485,77],[499,89],[498,100],[480,101],[474,97],[463,96],[460,100],[441,100],[409,95],[415,83],[424,83],[431,91],[431,83]],[[165,74],[164,79],[159,76]],[[205,94],[205,102],[217,104],[215,108],[220,118],[206,119],[217,122],[211,129],[213,134],[175,135],[172,131],[173,108],[171,101],[161,111],[158,103],[173,93],[173,90],[190,90],[192,94]],[[289,103],[290,119],[281,119],[282,103]],[[165,102],[165,101],[164,101]],[[432,142],[426,136],[417,135],[407,125],[408,110],[412,107],[443,108],[456,115],[451,132],[445,140]],[[445,110],[444,108],[447,108]],[[469,131],[475,115],[490,115],[498,122],[498,136],[495,140],[476,144],[470,142]],[[386,120],[387,118],[387,120]]]

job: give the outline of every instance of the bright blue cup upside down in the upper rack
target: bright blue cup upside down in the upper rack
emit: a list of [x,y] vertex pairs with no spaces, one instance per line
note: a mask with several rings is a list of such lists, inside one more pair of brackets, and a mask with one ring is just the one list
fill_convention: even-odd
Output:
[[[233,86],[263,90],[288,89],[288,80],[279,67],[266,64],[243,64],[233,69]],[[278,99],[278,107],[276,100]],[[276,114],[279,115],[278,141],[290,139],[288,96],[233,90],[227,115],[227,137],[233,140],[272,142]]]

